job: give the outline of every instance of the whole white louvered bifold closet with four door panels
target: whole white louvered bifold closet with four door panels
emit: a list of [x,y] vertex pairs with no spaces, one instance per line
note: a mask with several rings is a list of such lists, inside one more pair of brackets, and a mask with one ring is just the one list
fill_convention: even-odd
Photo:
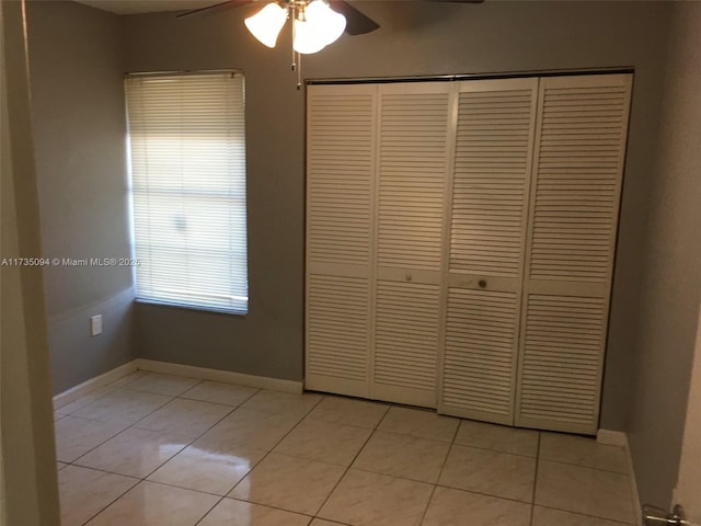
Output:
[[595,433],[631,82],[309,85],[306,387]]

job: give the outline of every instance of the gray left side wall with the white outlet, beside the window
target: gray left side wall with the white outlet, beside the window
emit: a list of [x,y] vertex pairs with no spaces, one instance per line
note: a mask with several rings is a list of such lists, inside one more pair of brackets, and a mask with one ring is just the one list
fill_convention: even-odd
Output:
[[[43,253],[129,255],[122,22],[72,2],[27,2]],[[54,390],[136,356],[126,267],[45,268]],[[104,333],[90,336],[102,313]]]

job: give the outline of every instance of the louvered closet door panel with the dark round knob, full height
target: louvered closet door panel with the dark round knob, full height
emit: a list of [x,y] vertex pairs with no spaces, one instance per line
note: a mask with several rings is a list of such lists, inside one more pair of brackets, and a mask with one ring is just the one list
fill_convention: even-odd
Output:
[[513,424],[538,79],[460,83],[439,411]]

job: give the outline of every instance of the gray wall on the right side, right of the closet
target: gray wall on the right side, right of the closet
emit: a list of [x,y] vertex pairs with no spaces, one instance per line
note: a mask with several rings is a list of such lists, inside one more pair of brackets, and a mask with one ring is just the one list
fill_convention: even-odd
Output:
[[701,298],[700,64],[701,3],[675,2],[629,423],[641,499],[660,505],[677,482]]

